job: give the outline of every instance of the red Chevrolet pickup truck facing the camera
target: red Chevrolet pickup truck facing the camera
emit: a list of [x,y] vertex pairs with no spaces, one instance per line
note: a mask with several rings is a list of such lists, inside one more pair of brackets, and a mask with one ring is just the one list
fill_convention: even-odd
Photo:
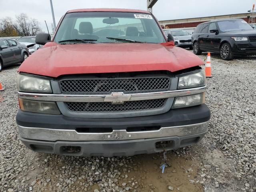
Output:
[[72,156],[132,156],[196,144],[208,130],[202,60],[130,9],[70,10],[19,68],[20,140]]

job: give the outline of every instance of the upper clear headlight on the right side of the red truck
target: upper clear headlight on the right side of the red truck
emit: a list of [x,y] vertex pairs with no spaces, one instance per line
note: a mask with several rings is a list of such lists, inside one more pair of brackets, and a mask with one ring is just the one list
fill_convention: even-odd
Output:
[[203,70],[179,77],[178,89],[205,86],[205,74]]

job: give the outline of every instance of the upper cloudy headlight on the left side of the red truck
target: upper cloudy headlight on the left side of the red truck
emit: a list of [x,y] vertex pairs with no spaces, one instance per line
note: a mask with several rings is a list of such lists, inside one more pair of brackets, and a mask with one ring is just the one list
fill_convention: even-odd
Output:
[[50,80],[18,74],[18,91],[52,93]]

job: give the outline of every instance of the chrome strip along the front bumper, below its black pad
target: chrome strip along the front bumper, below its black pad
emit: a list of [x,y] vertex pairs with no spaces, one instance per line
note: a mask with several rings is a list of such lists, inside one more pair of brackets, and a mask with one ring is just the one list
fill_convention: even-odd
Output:
[[146,138],[162,138],[170,136],[188,136],[206,132],[208,121],[184,126],[162,127],[155,131],[127,132],[126,130],[113,130],[111,133],[78,133],[76,130],[60,130],[49,128],[32,128],[19,126],[22,138],[43,141],[115,141],[134,140]]

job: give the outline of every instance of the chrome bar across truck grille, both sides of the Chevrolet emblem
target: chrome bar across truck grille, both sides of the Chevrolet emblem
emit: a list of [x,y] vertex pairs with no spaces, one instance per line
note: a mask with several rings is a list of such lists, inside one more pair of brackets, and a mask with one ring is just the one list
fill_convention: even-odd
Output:
[[[134,94],[122,94],[122,96],[128,98],[126,101],[138,101],[138,100],[150,100],[150,99],[161,99],[170,97],[180,97],[193,94],[200,94],[206,91],[206,86],[170,90],[163,92],[149,92],[149,93],[134,93]],[[40,101],[55,101],[55,102],[108,102],[105,98],[108,95],[74,95],[74,94],[41,94],[41,93],[28,93],[18,92],[18,96],[21,99],[28,100],[40,100]],[[105,100],[105,101],[104,101]],[[111,102],[111,100],[109,101]]]

